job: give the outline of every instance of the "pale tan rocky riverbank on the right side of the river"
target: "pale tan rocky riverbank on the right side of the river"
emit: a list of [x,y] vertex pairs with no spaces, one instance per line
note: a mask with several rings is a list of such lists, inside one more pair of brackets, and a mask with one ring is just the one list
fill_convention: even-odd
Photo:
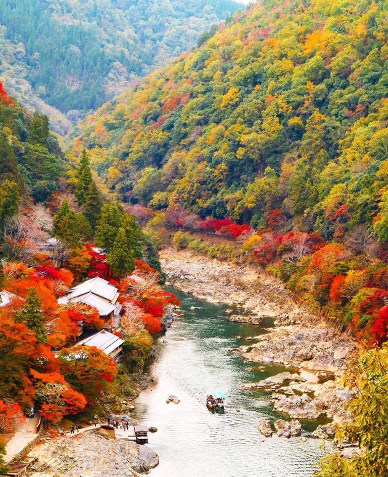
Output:
[[251,337],[238,352],[247,361],[280,363],[295,372],[247,388],[268,390],[275,409],[293,418],[348,418],[344,407],[351,393],[338,378],[357,354],[351,338],[295,303],[280,282],[257,269],[172,249],[160,257],[168,284],[212,303],[237,305],[240,313],[229,319],[257,324],[275,318],[267,334]]

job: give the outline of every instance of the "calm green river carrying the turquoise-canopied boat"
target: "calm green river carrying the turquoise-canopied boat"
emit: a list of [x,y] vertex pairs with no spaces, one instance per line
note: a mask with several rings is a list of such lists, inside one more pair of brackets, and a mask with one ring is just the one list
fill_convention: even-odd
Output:
[[[142,423],[158,428],[149,434],[149,446],[160,457],[153,477],[304,477],[321,459],[317,439],[266,439],[257,430],[265,417],[284,417],[272,408],[265,391],[243,391],[241,384],[284,371],[279,365],[245,363],[233,350],[245,338],[265,332],[271,319],[260,326],[232,323],[227,305],[214,305],[169,289],[181,300],[183,316],[156,343],[150,366],[155,382],[136,400]],[[251,368],[251,369],[250,369]],[[253,369],[252,369],[253,368]],[[212,413],[206,394],[222,391],[225,412]],[[166,403],[176,395],[179,404]],[[301,421],[306,431],[315,422]]]

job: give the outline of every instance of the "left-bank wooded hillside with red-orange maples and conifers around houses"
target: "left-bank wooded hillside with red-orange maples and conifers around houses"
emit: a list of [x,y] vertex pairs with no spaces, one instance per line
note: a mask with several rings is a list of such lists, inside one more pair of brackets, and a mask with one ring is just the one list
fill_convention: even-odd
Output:
[[[66,164],[47,117],[26,114],[0,83],[1,475],[4,438],[26,406],[44,425],[90,420],[104,412],[104,393],[137,389],[133,373],[151,353],[151,335],[162,330],[165,306],[178,304],[161,290],[160,272],[150,237],[104,198],[86,152]],[[110,301],[67,298],[85,280]],[[92,344],[79,347],[101,330],[120,340],[119,365]]]

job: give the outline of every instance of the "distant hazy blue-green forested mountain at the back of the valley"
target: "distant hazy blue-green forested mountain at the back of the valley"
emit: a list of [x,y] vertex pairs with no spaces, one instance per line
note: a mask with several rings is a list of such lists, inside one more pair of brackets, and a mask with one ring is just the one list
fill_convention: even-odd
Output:
[[66,133],[83,112],[189,49],[240,7],[233,0],[4,0],[0,80]]

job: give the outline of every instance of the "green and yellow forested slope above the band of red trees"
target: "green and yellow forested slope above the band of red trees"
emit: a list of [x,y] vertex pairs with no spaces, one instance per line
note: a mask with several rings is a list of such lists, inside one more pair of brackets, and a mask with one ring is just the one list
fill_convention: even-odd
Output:
[[260,228],[279,207],[327,239],[371,227],[387,178],[385,9],[251,8],[88,117],[76,152],[82,142],[124,200],[156,209]]

